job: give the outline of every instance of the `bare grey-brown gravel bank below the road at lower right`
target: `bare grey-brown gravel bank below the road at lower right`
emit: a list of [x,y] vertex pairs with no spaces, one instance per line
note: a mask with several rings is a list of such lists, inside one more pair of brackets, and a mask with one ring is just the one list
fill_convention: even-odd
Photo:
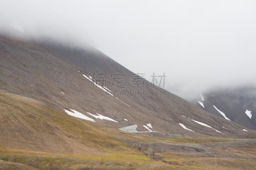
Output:
[[255,139],[199,144],[164,144],[151,142],[134,144],[134,147],[150,157],[157,153],[182,154],[194,157],[215,157],[215,152],[217,152],[218,158],[235,158],[252,161],[256,161],[255,146]]

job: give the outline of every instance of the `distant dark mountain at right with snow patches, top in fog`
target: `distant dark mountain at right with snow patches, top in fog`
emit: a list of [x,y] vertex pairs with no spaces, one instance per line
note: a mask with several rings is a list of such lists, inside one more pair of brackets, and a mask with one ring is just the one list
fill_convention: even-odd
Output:
[[[256,130],[256,88],[236,87],[204,92],[192,100],[196,106],[221,118],[226,117],[249,129]],[[200,104],[201,102],[201,104]],[[202,103],[204,107],[202,106]]]

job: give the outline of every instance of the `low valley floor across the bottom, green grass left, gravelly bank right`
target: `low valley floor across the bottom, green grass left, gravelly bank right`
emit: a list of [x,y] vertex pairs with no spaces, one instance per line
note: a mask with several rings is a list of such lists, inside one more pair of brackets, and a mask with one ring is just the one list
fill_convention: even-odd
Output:
[[[183,140],[189,142],[191,139],[194,137]],[[256,140],[232,140],[175,145],[144,142],[135,145],[140,152],[135,148],[129,151],[95,149],[100,153],[95,155],[52,154],[1,147],[0,169],[214,169],[215,152],[218,169],[255,169]],[[199,149],[201,147],[204,149]]]

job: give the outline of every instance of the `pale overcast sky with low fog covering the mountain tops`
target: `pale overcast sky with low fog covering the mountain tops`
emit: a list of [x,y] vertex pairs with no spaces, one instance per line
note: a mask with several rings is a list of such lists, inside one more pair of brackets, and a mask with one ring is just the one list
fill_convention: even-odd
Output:
[[256,85],[253,0],[0,2],[0,33],[90,43],[149,81],[165,73],[164,88],[181,97]]

